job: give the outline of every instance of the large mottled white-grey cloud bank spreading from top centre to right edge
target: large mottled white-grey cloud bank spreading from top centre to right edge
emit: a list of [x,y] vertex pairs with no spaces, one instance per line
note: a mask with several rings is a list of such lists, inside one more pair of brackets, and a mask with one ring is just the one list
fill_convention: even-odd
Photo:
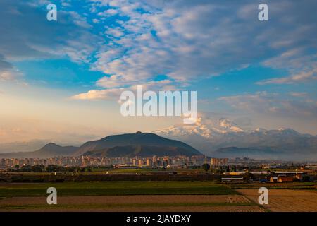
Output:
[[98,14],[101,20],[112,14],[125,20],[117,19],[113,24],[116,30],[108,30],[113,40],[100,49],[93,68],[123,76],[125,81],[148,81],[160,74],[176,81],[195,81],[261,61],[264,66],[278,68],[276,59],[289,58],[287,51],[299,47],[304,50],[289,53],[293,54],[290,65],[280,61],[294,74],[302,69],[297,61],[313,59],[307,48],[317,49],[316,19],[306,20],[315,5],[310,0],[305,5],[270,2],[274,23],[269,25],[259,22],[259,4],[253,1],[94,2],[94,7],[113,7]]

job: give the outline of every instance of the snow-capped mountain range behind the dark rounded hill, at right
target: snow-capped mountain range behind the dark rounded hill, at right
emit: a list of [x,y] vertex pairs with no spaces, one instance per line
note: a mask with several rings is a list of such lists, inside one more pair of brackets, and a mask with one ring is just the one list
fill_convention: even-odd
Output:
[[229,119],[201,119],[154,133],[184,141],[212,157],[317,160],[317,136],[293,129],[243,129]]

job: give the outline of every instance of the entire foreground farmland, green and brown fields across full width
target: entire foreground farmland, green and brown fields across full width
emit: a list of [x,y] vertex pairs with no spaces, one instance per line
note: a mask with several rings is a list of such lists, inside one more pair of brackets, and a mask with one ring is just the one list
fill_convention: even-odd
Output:
[[[58,204],[46,203],[57,189]],[[269,205],[257,203],[269,189]],[[233,201],[232,201],[233,200]],[[213,181],[1,183],[0,211],[317,211],[316,183],[220,184]]]

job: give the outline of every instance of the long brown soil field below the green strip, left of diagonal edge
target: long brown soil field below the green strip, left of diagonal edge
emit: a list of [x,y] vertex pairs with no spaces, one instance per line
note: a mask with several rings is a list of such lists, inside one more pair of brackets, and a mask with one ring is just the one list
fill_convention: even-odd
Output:
[[46,197],[4,198],[0,211],[264,211],[240,195],[61,196],[57,202],[49,206]]

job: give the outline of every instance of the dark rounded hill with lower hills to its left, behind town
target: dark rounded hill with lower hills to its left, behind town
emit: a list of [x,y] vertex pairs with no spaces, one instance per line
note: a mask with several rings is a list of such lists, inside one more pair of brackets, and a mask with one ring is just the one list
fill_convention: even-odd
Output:
[[43,148],[32,152],[1,153],[0,157],[39,157],[80,156],[95,157],[149,157],[153,155],[202,155],[198,150],[186,143],[163,138],[154,133],[128,133],[107,136],[97,141],[89,141],[79,148],[73,146],[61,147],[49,143]]

